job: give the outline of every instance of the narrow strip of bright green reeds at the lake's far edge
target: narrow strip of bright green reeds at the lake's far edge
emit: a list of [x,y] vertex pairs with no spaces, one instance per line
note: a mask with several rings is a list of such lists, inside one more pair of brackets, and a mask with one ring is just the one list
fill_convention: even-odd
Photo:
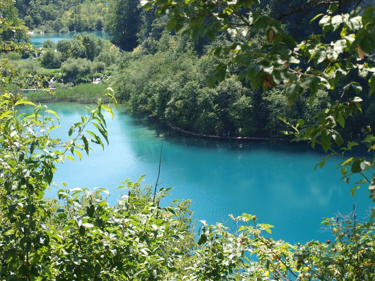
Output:
[[[72,88],[57,88],[54,94],[44,93],[43,91],[35,91],[25,93],[24,96],[32,102],[59,102],[70,101],[79,103],[96,103],[98,98],[108,88],[107,84],[79,84]],[[108,97],[103,97],[102,102],[109,102]]]

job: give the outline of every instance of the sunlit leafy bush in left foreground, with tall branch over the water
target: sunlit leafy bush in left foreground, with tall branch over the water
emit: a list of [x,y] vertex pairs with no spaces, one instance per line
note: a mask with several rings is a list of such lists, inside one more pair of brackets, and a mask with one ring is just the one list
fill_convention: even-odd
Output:
[[[111,93],[104,96],[115,102]],[[19,112],[22,105],[33,106],[34,112]],[[1,280],[153,280],[174,270],[179,251],[165,246],[183,229],[173,219],[172,206],[159,207],[169,190],[162,188],[153,203],[135,193],[141,180],[126,179],[115,206],[98,199],[108,193],[102,188],[59,190],[60,203],[43,198],[57,163],[81,158],[81,149],[89,154],[89,143],[104,148],[102,111],[113,116],[99,99],[89,116],[72,125],[69,136],[74,137],[59,142],[49,136],[58,126],[55,112],[11,94],[1,96]],[[89,123],[97,133],[87,130]],[[48,214],[54,222],[47,226]]]

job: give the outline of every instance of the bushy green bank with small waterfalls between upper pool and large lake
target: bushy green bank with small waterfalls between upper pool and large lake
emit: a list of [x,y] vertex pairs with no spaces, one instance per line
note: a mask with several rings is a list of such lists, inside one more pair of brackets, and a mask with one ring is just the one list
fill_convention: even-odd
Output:
[[[17,52],[7,52],[7,66],[15,67],[11,91],[55,88],[56,95],[36,91],[28,99],[39,102],[71,100],[95,103],[103,90],[111,84],[116,68],[118,48],[93,34],[75,34],[71,40],[43,42],[42,51],[32,60],[21,60]],[[27,53],[30,53],[29,51]],[[39,77],[40,82],[34,79]],[[95,82],[95,84],[93,83]],[[22,85],[21,88],[20,85]]]

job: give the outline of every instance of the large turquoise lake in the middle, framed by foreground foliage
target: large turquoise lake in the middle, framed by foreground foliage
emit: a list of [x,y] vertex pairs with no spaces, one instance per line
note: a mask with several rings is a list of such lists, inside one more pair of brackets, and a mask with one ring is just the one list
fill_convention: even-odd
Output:
[[[60,102],[48,104],[58,113],[61,127],[53,135],[68,140],[72,124],[87,114],[84,105]],[[116,190],[120,181],[138,180],[147,174],[145,184],[155,184],[159,167],[161,130],[147,120],[129,116],[120,108],[113,121],[107,116],[109,146],[95,146],[90,157],[70,160],[58,166],[54,180],[68,188],[104,187],[115,204],[123,192]],[[364,152],[366,148],[362,148]],[[228,214],[257,215],[258,223],[275,226],[272,237],[291,243],[308,240],[326,241],[330,232],[320,233],[323,217],[350,212],[365,214],[371,205],[367,187],[350,195],[350,186],[336,171],[338,159],[323,169],[314,166],[324,152],[311,151],[304,145],[255,142],[210,141],[173,136],[164,138],[160,187],[174,187],[164,205],[174,199],[192,200],[197,220],[210,224],[227,221]],[[51,196],[57,196],[57,188]],[[198,221],[197,226],[201,223]]]

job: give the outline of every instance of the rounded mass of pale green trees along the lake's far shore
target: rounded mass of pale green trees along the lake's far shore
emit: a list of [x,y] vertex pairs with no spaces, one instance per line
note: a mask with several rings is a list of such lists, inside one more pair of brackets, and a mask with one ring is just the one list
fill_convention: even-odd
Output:
[[198,58],[191,51],[175,58],[169,54],[128,60],[118,72],[119,99],[127,102],[133,114],[157,115],[184,130],[208,135],[221,134],[223,128],[241,136],[256,131],[248,115],[253,111],[252,93],[235,76],[208,87],[204,78],[214,60]]

